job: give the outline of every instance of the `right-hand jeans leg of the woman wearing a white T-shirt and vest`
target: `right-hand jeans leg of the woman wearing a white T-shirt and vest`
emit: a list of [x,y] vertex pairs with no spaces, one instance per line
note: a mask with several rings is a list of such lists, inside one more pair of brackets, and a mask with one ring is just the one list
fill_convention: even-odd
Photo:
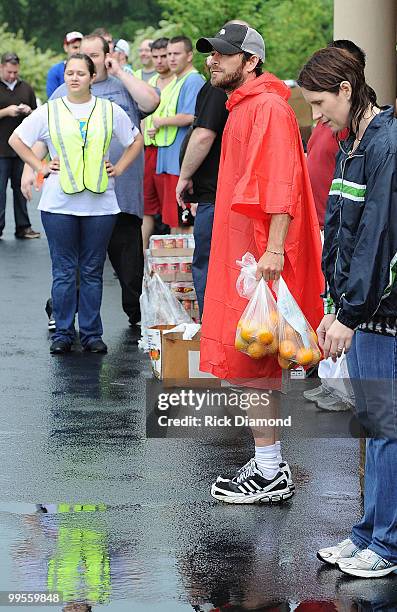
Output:
[[86,347],[101,338],[103,333],[100,315],[103,266],[117,215],[78,217],[78,219],[80,223],[78,317],[81,344]]

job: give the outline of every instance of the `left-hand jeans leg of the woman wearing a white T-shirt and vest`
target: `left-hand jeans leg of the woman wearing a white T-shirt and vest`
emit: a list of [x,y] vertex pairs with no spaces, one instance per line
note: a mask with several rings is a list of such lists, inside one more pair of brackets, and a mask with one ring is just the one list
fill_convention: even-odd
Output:
[[42,211],[41,220],[52,262],[52,304],[56,321],[53,341],[72,344],[75,336],[76,270],[79,253],[79,223],[74,215]]

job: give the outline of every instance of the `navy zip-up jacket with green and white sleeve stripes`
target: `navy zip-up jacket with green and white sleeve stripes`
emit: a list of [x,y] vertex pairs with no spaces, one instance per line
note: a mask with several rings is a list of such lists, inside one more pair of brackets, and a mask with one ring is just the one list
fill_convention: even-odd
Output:
[[[325,217],[326,312],[355,329],[397,317],[397,120],[382,109],[349,154],[341,144]],[[331,298],[331,300],[330,300]],[[328,308],[328,310],[327,310]]]

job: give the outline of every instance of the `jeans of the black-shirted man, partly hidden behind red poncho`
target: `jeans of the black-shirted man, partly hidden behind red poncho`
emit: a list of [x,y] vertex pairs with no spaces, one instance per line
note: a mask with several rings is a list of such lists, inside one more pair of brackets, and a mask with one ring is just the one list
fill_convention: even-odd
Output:
[[215,205],[199,202],[194,220],[194,255],[192,274],[194,288],[200,310],[200,318],[204,309],[204,293],[207,284],[208,261],[211,251],[212,226],[214,224]]

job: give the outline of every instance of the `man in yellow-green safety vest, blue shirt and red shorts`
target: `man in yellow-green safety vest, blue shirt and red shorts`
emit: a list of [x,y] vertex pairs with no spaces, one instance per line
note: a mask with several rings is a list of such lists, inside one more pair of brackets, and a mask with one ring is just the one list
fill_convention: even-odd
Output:
[[175,79],[162,92],[160,106],[152,118],[151,134],[157,146],[154,183],[160,200],[163,222],[178,227],[175,189],[179,178],[179,152],[189,126],[194,121],[197,94],[204,77],[193,67],[192,41],[186,36],[171,38],[167,59]]

